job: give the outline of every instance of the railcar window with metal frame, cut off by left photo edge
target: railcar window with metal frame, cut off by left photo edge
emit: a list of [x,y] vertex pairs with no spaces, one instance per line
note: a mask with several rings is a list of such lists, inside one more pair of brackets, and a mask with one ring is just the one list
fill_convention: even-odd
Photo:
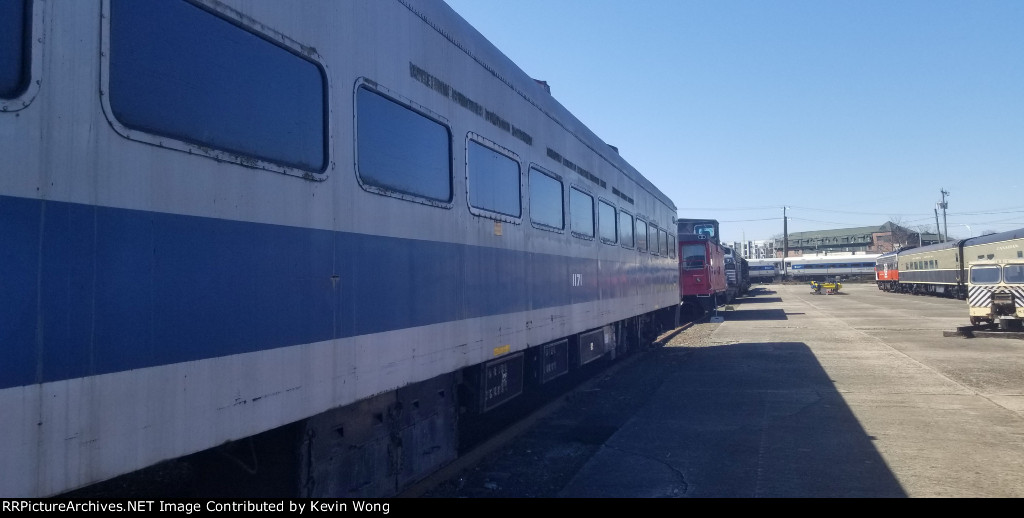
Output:
[[[13,113],[27,107],[39,93],[42,47],[45,33],[43,31],[43,4],[38,0],[18,0],[5,4],[16,11],[13,15],[2,15],[0,30],[9,41],[0,45],[9,47],[8,56],[12,59],[9,68],[0,71],[7,75],[7,86],[0,86],[0,113]],[[17,33],[10,31],[15,29]],[[3,59],[0,58],[0,61]],[[0,76],[0,85],[2,85]]]

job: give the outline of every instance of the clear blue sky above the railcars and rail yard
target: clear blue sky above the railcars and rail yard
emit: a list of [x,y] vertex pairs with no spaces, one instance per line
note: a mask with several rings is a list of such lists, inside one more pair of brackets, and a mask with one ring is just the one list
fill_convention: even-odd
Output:
[[1024,227],[1024,0],[446,1],[726,242]]

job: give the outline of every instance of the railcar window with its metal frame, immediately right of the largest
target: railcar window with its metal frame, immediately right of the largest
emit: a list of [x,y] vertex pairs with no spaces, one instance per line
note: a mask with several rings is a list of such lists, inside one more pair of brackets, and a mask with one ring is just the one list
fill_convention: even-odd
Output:
[[[374,175],[368,174],[370,172],[369,171],[370,168],[365,167],[362,160],[364,157],[369,155],[368,153],[369,149],[364,149],[361,147],[365,140],[364,140],[364,135],[360,133],[364,130],[360,129],[359,119],[366,118],[367,120],[374,122],[379,121],[379,119],[376,117],[370,117],[364,111],[364,107],[367,105],[360,104],[361,101],[358,99],[358,95],[361,92],[367,92],[367,94],[369,95],[376,96],[376,98],[375,97],[368,97],[368,98],[374,98],[375,100],[383,99],[385,102],[389,102],[390,104],[387,104],[387,107],[389,110],[398,109],[398,111],[394,112],[394,114],[400,114],[401,117],[412,116],[413,117],[412,119],[403,121],[408,131],[414,131],[414,130],[426,131],[427,128],[429,128],[432,131],[443,130],[444,133],[443,147],[446,156],[443,160],[440,157],[435,157],[433,159],[434,161],[437,162],[436,164],[433,165],[434,168],[437,169],[437,171],[435,171],[433,173],[433,176],[430,177],[430,179],[432,179],[436,183],[436,186],[426,189],[422,188],[422,185],[428,185],[427,183],[421,184],[421,186],[416,188],[409,187],[408,185],[403,186],[398,184],[402,178],[394,176],[394,171],[403,171],[402,174],[406,174],[408,176],[411,173],[404,171],[407,171],[412,167],[419,167],[421,164],[425,163],[425,161],[422,160],[421,155],[410,155],[408,147],[403,147],[406,149],[403,153],[385,154],[388,156],[386,160],[393,162],[396,158],[400,159],[404,157],[410,162],[410,164],[406,168],[397,167],[397,165],[391,164],[389,168],[390,170],[384,172],[385,174],[390,175],[387,176],[386,178],[388,181],[384,181],[385,174],[377,174],[377,172],[375,172]],[[402,99],[401,97],[390,92],[387,88],[384,88],[380,84],[377,84],[376,82],[370,82],[366,79],[362,79],[356,83],[355,92],[353,93],[353,95],[354,95],[353,105],[355,105],[355,115],[356,115],[354,121],[355,177],[356,180],[359,182],[359,186],[362,187],[364,190],[376,195],[381,195],[389,198],[397,198],[399,200],[404,200],[408,202],[415,202],[443,209],[451,209],[455,203],[455,181],[453,179],[455,168],[453,167],[454,152],[452,149],[453,132],[452,132],[452,127],[447,123],[447,121],[441,118],[440,116],[427,112],[425,109],[416,105],[412,101]],[[362,114],[362,117],[360,117],[360,114]],[[419,125],[419,129],[412,128],[411,127],[412,125]],[[388,131],[381,131],[380,133],[381,134],[379,135],[379,137],[381,139],[390,140],[391,135]],[[437,136],[439,137],[440,134],[438,134]],[[366,135],[366,137],[369,138],[370,135]],[[424,148],[422,144],[425,143],[426,140],[427,139],[424,138],[417,139],[417,141],[420,142],[421,144],[419,149],[421,154],[424,152],[431,152],[438,154],[440,153],[439,149],[440,145],[436,145],[437,149],[434,149],[434,147]],[[400,143],[401,142],[398,142],[398,144]],[[435,142],[435,144],[437,142]],[[443,168],[443,171],[441,170],[441,168]],[[417,178],[417,181],[422,181],[423,175],[418,175],[418,176],[420,176],[420,178]],[[417,190],[417,188],[419,188],[419,190]]]

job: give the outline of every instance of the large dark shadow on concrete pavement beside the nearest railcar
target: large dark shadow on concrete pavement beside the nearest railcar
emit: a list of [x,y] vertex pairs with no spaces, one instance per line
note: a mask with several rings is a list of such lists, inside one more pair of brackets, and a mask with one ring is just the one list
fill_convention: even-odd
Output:
[[666,347],[646,369],[660,386],[561,497],[906,497],[803,343]]

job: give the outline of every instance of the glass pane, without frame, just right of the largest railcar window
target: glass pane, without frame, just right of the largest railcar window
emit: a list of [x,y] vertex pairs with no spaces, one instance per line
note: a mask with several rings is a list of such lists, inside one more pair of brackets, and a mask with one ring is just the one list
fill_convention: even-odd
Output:
[[452,201],[446,127],[367,88],[356,93],[357,169],[366,185]]

